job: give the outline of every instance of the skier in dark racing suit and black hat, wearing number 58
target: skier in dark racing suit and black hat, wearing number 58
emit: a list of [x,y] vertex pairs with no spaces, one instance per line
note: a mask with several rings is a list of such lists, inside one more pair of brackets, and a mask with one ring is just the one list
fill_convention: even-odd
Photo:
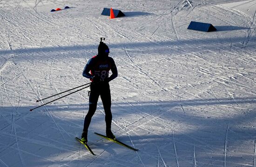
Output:
[[[88,142],[88,127],[96,111],[99,96],[101,96],[105,111],[106,136],[112,139],[115,138],[115,135],[111,131],[111,95],[108,82],[117,77],[117,68],[114,59],[108,57],[109,48],[102,42],[102,39],[105,40],[105,38],[101,38],[100,45],[98,46],[98,54],[88,61],[83,70],[83,77],[87,77],[92,81],[90,85],[89,110],[84,119],[84,128],[81,135],[81,141],[86,143]],[[110,70],[112,75],[108,77]]]

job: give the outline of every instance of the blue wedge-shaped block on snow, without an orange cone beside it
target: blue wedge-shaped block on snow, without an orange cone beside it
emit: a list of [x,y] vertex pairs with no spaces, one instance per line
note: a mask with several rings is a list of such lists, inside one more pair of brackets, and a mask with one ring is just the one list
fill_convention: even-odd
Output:
[[196,30],[202,32],[213,32],[216,31],[216,28],[210,23],[202,23],[191,21],[188,27],[189,30]]

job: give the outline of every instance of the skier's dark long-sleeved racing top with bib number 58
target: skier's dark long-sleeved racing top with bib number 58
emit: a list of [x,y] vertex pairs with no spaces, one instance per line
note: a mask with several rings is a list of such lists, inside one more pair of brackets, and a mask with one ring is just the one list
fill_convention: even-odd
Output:
[[[108,77],[110,70],[112,75]],[[114,59],[111,57],[101,58],[98,55],[91,58],[84,67],[83,76],[93,81],[95,75],[99,76],[102,81],[115,79],[118,74]]]

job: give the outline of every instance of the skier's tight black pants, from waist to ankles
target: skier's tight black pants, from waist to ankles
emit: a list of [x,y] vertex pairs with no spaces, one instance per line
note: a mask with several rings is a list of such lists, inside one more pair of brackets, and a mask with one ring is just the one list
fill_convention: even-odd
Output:
[[91,119],[96,111],[99,96],[103,103],[105,111],[106,129],[111,129],[112,113],[111,113],[111,95],[108,82],[91,83],[91,92],[89,96],[89,111],[84,119],[84,132],[88,132]]

